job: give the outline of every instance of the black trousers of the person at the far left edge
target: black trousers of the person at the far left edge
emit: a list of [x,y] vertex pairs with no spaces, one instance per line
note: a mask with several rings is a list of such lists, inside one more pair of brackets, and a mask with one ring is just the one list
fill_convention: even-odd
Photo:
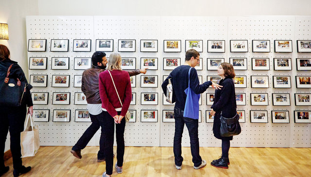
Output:
[[0,168],[4,167],[3,155],[8,131],[10,131],[13,168],[19,169],[22,166],[20,132],[24,130],[26,114],[26,105],[18,107],[0,106]]

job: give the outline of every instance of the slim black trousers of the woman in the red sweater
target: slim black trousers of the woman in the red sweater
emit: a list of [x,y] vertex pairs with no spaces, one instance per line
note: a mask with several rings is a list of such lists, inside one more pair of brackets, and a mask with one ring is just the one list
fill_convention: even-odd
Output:
[[[106,174],[112,175],[113,171],[113,142],[115,133],[115,122],[113,117],[107,111],[104,112],[104,133],[105,133],[105,155],[106,155]],[[118,112],[120,115],[121,111]],[[123,166],[124,156],[124,129],[125,118],[121,120],[121,124],[116,124],[116,140],[117,140],[117,165]]]

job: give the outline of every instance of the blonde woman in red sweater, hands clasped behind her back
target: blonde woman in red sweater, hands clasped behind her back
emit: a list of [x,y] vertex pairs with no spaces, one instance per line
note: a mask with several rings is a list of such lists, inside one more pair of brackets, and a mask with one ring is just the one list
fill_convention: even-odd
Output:
[[122,173],[125,129],[125,119],[123,118],[132,99],[130,76],[127,71],[121,70],[121,55],[119,53],[110,54],[107,70],[100,73],[99,92],[104,112],[104,133],[106,137],[106,172],[104,172],[103,177],[110,177],[113,170],[114,124],[116,124],[117,139],[117,163],[115,167],[118,173]]

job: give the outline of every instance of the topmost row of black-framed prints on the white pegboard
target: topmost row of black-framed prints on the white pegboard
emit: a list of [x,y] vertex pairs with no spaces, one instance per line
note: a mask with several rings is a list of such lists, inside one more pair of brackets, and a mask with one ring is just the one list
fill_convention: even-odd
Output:
[[[28,52],[45,52],[47,39],[29,39]],[[113,39],[96,39],[96,51],[113,52]],[[164,40],[164,52],[181,52],[181,40]],[[275,52],[293,52],[292,40],[274,40]],[[91,52],[91,39],[73,39],[73,52]],[[270,52],[270,40],[252,40],[253,52]],[[51,39],[51,52],[68,52],[69,39]],[[185,52],[203,52],[203,40],[185,40]],[[136,39],[119,39],[118,52],[136,52]],[[158,40],[141,39],[140,52],[158,52]],[[207,52],[224,53],[225,40],[207,40]],[[230,40],[230,52],[248,52],[248,40]],[[311,40],[297,40],[297,52],[311,52]]]

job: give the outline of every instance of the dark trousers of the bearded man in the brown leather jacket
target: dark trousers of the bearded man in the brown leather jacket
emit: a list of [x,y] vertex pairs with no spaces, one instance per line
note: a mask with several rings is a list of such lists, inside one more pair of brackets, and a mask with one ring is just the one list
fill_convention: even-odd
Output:
[[105,158],[105,134],[104,134],[104,112],[98,115],[89,114],[92,124],[86,129],[78,142],[72,147],[72,150],[79,151],[84,149],[87,143],[93,138],[99,127],[102,127],[101,138],[99,140],[99,151],[97,153],[97,159]]

